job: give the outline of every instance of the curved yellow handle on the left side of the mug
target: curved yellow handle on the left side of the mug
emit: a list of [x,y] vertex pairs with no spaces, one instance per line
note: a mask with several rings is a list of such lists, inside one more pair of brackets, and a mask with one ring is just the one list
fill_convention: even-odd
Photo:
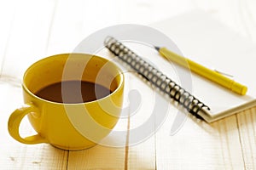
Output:
[[34,105],[26,105],[19,109],[16,109],[11,116],[9,116],[8,122],[8,130],[9,134],[23,144],[40,144],[40,143],[48,143],[44,137],[40,134],[35,134],[32,136],[28,136],[26,138],[22,138],[19,133],[20,122],[24,116],[29,113],[37,113],[38,109]]

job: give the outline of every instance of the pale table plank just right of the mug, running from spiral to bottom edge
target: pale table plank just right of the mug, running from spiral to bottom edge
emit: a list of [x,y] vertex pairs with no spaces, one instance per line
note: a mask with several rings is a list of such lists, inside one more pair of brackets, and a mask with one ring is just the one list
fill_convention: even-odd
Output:
[[[154,116],[155,92],[143,80],[131,75],[130,80],[130,135],[127,169],[155,169],[155,120],[148,122]],[[154,117],[155,118],[155,117]],[[152,132],[148,133],[148,129]],[[145,135],[148,133],[148,135]],[[151,135],[149,135],[152,133]]]

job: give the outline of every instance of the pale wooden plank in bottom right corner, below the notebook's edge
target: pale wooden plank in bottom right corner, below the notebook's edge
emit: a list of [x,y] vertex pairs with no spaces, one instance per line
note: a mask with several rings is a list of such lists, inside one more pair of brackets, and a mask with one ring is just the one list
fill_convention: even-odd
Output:
[[237,114],[245,169],[256,169],[256,108]]

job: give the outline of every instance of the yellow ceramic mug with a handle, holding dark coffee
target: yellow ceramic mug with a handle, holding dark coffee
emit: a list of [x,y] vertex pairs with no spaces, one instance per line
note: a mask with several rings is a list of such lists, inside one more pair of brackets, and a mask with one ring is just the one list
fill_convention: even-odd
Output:
[[[111,94],[78,103],[61,103],[36,95],[40,89],[64,81],[97,83]],[[49,143],[63,150],[83,150],[98,144],[118,122],[124,75],[113,62],[96,55],[57,54],[31,65],[24,74],[22,88],[26,105],[9,117],[9,134],[23,144]],[[61,90],[65,94],[65,89]],[[26,115],[37,134],[23,138],[19,127]]]

